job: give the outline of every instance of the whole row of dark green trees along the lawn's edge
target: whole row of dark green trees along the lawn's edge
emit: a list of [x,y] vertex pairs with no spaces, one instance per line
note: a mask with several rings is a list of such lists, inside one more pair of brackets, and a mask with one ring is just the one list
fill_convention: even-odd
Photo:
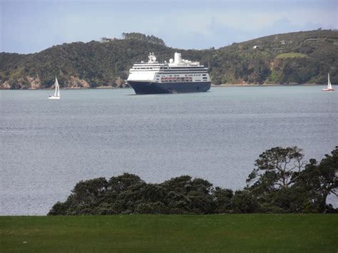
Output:
[[305,166],[301,152],[297,147],[265,150],[248,177],[252,185],[235,193],[188,175],[159,184],[128,173],[81,181],[48,215],[337,212],[327,205],[327,196],[337,196],[338,147]]

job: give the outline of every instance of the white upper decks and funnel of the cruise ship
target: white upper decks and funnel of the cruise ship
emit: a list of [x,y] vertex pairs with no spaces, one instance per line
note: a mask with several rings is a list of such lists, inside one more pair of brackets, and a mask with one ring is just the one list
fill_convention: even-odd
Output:
[[208,68],[200,65],[198,61],[188,61],[180,53],[175,53],[174,59],[169,63],[159,63],[150,53],[147,63],[135,63],[129,70],[127,81],[150,83],[203,83],[210,82]]

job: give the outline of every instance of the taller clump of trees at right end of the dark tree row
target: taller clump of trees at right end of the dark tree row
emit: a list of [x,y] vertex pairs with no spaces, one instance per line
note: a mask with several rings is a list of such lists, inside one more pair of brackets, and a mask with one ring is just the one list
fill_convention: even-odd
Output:
[[271,148],[256,160],[256,168],[245,188],[259,200],[261,211],[332,212],[327,196],[337,195],[338,149],[325,155],[321,162],[314,159],[305,165],[304,155],[297,147]]

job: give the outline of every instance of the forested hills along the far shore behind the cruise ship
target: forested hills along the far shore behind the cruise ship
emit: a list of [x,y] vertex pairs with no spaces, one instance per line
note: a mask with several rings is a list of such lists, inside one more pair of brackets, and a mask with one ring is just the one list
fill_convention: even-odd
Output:
[[160,38],[123,33],[123,39],[63,43],[39,53],[0,53],[0,88],[49,88],[58,76],[61,87],[122,87],[135,61],[149,52],[158,61],[183,58],[210,68],[212,83],[338,83],[338,31],[275,34],[222,48],[170,48]]

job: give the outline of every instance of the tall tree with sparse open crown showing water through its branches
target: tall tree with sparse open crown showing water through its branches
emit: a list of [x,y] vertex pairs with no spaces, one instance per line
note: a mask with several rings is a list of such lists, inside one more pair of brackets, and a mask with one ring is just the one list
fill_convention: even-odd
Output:
[[292,204],[287,197],[290,194],[288,189],[295,184],[304,167],[301,152],[297,147],[270,148],[255,161],[245,190],[259,202],[260,212],[290,212]]

